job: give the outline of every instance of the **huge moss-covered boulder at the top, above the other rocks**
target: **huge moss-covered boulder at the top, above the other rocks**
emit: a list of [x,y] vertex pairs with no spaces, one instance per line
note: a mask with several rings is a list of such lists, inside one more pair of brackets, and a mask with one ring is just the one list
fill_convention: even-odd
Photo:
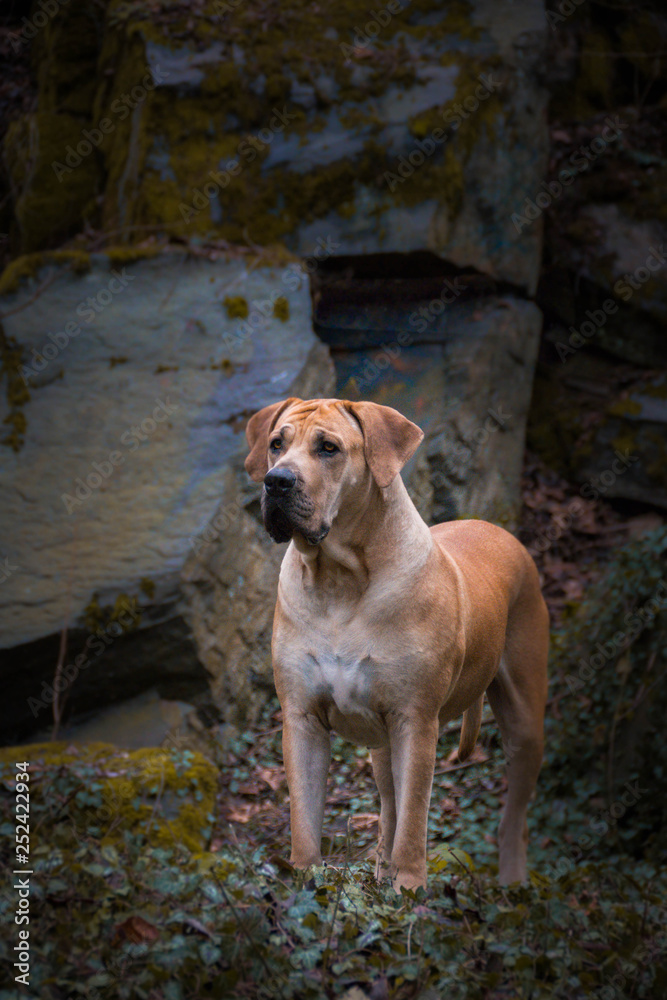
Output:
[[[534,292],[541,220],[513,215],[546,162],[540,0],[511,18],[488,0],[391,4],[377,18],[294,2],[268,19],[258,0],[208,0],[196,18],[110,3],[98,35],[81,125],[96,130],[105,231],[148,225],[303,256],[429,249]],[[67,78],[69,61],[56,63]],[[17,154],[17,203],[60,204],[58,182],[33,181],[28,164]]]

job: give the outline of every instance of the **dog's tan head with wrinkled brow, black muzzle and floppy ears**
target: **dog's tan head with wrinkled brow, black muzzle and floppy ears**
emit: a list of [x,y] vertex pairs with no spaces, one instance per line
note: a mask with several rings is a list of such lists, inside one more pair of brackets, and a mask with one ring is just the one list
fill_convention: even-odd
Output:
[[310,545],[329,533],[344,501],[385,489],[424,437],[397,410],[377,403],[291,397],[248,421],[245,467],[263,482],[262,516],[276,542],[294,532]]

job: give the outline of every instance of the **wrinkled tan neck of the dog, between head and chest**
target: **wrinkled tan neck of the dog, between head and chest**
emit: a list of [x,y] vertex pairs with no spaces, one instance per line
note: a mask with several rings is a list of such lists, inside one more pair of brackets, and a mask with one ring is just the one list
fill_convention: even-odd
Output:
[[385,489],[370,478],[367,502],[339,511],[319,545],[296,533],[293,543],[311,582],[351,575],[364,591],[371,574],[379,579],[401,556],[408,566],[425,560],[433,539],[398,475]]

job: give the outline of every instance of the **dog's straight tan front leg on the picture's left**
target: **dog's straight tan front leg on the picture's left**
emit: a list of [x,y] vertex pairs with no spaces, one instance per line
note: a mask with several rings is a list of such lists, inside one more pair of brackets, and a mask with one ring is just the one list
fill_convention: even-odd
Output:
[[290,793],[290,861],[296,868],[319,865],[331,740],[315,716],[284,712],[283,760]]

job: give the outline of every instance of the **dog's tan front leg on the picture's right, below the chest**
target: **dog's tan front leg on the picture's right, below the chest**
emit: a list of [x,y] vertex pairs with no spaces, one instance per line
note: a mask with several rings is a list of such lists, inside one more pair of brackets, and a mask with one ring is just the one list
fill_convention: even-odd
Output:
[[396,833],[391,852],[394,888],[426,886],[428,809],[438,742],[438,720],[401,719],[391,732]]

